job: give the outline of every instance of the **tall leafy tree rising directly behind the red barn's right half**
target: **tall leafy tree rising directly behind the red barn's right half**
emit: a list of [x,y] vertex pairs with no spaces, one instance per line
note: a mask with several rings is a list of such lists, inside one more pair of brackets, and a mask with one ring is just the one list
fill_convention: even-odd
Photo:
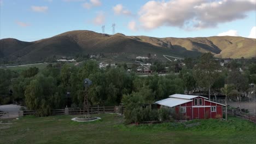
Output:
[[214,60],[213,55],[204,53],[200,62],[193,68],[193,76],[200,87],[208,89],[208,97],[211,99],[211,87],[219,76],[220,65]]

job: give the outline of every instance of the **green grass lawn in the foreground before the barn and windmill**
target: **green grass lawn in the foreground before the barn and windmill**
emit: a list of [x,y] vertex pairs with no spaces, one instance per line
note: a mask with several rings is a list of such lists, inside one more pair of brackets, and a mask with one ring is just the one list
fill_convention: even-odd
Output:
[[235,117],[124,125],[115,114],[96,116],[102,119],[89,123],[73,122],[74,116],[15,119],[0,124],[0,143],[256,143],[256,124]]

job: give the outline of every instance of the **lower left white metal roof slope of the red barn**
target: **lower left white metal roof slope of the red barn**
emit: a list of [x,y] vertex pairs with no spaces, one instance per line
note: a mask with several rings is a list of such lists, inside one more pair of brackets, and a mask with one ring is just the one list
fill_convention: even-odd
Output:
[[180,98],[167,98],[167,99],[156,101],[155,103],[159,104],[159,105],[173,107],[173,106],[176,106],[176,105],[181,105],[181,104],[184,104],[184,103],[188,103],[189,101],[193,101],[193,100],[180,99]]

